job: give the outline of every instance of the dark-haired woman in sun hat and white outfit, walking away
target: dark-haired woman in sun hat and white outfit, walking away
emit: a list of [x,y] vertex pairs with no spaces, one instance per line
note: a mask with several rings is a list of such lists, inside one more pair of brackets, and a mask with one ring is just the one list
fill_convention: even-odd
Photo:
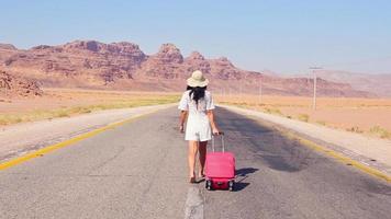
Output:
[[[206,159],[206,143],[211,140],[212,134],[219,135],[219,129],[214,123],[213,110],[214,103],[212,95],[206,91],[209,80],[205,79],[201,71],[197,70],[187,80],[188,89],[183,93],[178,108],[180,113],[179,129],[186,134],[185,140],[189,141],[189,177],[190,183],[196,183],[196,155],[200,151],[199,177],[204,177],[204,165]],[[211,130],[212,128],[212,130]]]

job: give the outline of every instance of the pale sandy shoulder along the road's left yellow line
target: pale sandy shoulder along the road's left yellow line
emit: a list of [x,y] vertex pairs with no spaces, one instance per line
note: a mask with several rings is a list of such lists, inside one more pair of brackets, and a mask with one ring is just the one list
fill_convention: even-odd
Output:
[[0,161],[60,142],[108,124],[163,110],[174,104],[108,110],[52,120],[4,126],[0,130]]

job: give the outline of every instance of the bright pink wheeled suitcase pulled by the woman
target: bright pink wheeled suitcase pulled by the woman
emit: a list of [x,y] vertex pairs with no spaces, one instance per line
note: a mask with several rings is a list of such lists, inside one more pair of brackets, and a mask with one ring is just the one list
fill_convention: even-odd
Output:
[[206,153],[205,187],[206,189],[234,189],[235,157],[225,151],[224,134],[221,135],[223,150],[214,151],[214,136],[212,137],[212,151]]

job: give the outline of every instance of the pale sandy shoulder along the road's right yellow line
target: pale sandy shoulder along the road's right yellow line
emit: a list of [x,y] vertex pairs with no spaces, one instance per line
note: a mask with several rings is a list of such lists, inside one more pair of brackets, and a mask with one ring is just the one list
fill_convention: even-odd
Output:
[[332,149],[343,152],[345,155],[354,160],[391,174],[391,140],[370,138],[359,134],[332,129],[236,106],[220,106],[239,114],[255,116],[299,134],[303,134],[313,139],[319,139],[326,142],[326,147],[332,147]]

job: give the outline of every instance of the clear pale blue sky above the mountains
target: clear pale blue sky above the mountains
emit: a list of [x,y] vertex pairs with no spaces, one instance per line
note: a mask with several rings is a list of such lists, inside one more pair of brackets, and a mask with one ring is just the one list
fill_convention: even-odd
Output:
[[9,0],[0,42],[20,48],[74,39],[129,41],[147,53],[228,57],[248,70],[391,73],[389,0]]

